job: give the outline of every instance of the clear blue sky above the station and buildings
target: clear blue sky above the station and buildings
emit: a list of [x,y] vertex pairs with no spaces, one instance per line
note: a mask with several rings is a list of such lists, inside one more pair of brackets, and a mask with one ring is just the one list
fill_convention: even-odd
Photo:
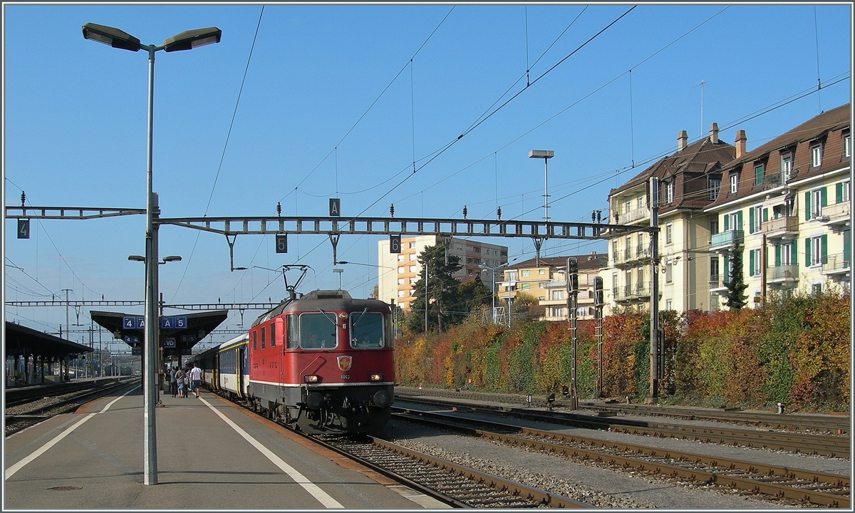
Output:
[[[146,55],[85,40],[86,22],[143,44],[222,30],[220,44],[156,54],[163,217],[272,215],[277,202],[284,214],[326,215],[338,196],[344,215],[382,197],[365,215],[394,203],[396,216],[459,217],[465,204],[470,218],[492,219],[498,204],[503,219],[540,219],[543,162],[528,150],[543,149],[555,151],[551,217],[590,221],[593,209],[608,214],[611,187],[675,151],[681,130],[699,139],[716,121],[728,143],[746,130],[751,150],[850,101],[849,4],[640,4],[585,44],[631,7],[4,4],[3,198],[20,205],[24,190],[28,206],[145,206]],[[530,81],[542,75],[528,88],[527,67]],[[390,192],[414,158],[418,172]],[[7,300],[64,298],[62,289],[143,298],[144,267],[127,256],[144,254],[144,216],[32,221],[29,240],[4,223]],[[378,239],[343,237],[339,259],[375,263]],[[490,242],[534,255],[529,240]],[[272,237],[239,236],[234,264],[307,263],[304,292],[335,288],[326,236],[289,243],[280,255]],[[604,243],[547,241],[543,254],[594,250]],[[285,295],[274,273],[229,272],[222,235],[162,227],[160,255],[184,258],[160,268],[167,303]],[[376,273],[345,266],[344,288],[366,297]],[[4,313],[44,331],[65,323],[64,308]],[[233,312],[224,327],[239,322]]]

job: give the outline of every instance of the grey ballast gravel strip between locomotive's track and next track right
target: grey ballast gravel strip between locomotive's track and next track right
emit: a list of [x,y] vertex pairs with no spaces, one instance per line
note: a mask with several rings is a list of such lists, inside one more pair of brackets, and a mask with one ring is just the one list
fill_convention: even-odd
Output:
[[805,507],[753,498],[745,492],[725,490],[719,486],[680,483],[674,479],[640,475],[634,470],[606,469],[593,464],[576,463],[540,451],[404,422],[390,422],[384,434],[386,439],[398,445],[598,508],[745,510]]

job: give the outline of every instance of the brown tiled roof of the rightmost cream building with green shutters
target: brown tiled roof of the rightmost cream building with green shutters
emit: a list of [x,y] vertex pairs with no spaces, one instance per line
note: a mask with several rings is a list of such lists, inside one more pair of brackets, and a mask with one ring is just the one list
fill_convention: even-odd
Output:
[[[764,180],[767,177],[775,177],[781,172],[781,162],[777,152],[787,148],[794,148],[795,155],[793,156],[793,180],[803,180],[818,174],[828,173],[834,169],[840,168],[841,165],[848,165],[842,162],[840,158],[825,157],[823,163],[818,168],[813,168],[810,165],[807,152],[810,151],[809,144],[815,139],[822,139],[825,135],[832,132],[838,132],[843,128],[849,127],[851,120],[851,105],[846,103],[835,109],[827,110],[820,115],[805,121],[798,127],[782,133],[775,139],[770,140],[766,144],[762,144],[754,150],[748,151],[745,155],[735,158],[722,166],[722,188],[718,193],[716,201],[709,205],[710,208],[715,208],[722,203],[730,203],[736,199],[751,196],[754,193],[763,190],[761,186],[753,185],[753,175],[745,170],[753,170],[753,162],[763,161],[765,159]],[[801,144],[805,144],[804,146]],[[745,168],[747,164],[747,168]],[[728,188],[728,174],[740,172],[739,186],[737,192],[730,193]]]

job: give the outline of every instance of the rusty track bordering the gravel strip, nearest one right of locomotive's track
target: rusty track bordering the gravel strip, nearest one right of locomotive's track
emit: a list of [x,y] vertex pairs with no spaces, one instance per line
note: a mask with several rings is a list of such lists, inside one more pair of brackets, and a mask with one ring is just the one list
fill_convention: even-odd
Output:
[[826,507],[850,507],[849,478],[843,475],[666,451],[496,422],[461,419],[448,414],[403,411],[393,414],[394,418],[398,421],[427,424],[433,428],[451,429],[504,444],[561,454],[588,463],[636,469],[643,474],[667,476],[681,481],[728,486],[753,494],[764,494],[769,498],[787,498],[799,503]]

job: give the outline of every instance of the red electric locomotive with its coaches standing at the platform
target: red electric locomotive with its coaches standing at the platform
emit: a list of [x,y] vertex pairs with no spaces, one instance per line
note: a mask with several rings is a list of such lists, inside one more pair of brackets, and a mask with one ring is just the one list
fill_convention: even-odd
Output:
[[[289,291],[292,292],[292,291]],[[290,298],[186,361],[203,386],[304,433],[379,432],[394,400],[392,310],[346,291]]]

